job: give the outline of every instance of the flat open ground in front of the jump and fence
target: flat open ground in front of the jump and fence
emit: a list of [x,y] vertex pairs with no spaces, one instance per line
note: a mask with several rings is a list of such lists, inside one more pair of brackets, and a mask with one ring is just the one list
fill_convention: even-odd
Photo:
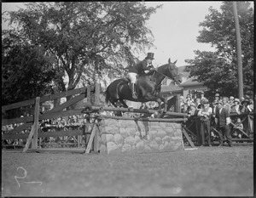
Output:
[[101,155],[2,152],[2,196],[253,196],[253,146]]

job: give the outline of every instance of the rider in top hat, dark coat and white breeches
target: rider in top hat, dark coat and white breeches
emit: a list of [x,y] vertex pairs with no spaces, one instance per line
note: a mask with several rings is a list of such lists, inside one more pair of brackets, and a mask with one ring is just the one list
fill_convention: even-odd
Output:
[[148,73],[148,71],[154,70],[154,66],[152,65],[152,60],[154,59],[154,53],[148,53],[147,57],[137,63],[137,65],[130,66],[128,69],[128,78],[131,80],[130,88],[132,93],[132,98],[137,99],[137,93],[134,87],[134,84],[137,79],[137,75],[143,75]]

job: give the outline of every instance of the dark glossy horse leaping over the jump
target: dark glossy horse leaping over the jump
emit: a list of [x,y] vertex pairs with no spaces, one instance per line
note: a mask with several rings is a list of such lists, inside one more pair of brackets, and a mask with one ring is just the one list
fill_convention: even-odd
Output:
[[161,82],[164,78],[168,77],[177,84],[181,83],[181,76],[178,74],[177,66],[175,65],[176,62],[177,60],[172,63],[171,59],[168,59],[168,64],[161,65],[156,71],[150,71],[148,74],[139,76],[136,85],[137,99],[132,98],[128,79],[118,79],[111,82],[105,92],[106,103],[108,104],[108,101],[110,101],[113,106],[117,107],[115,103],[119,100],[125,108],[128,108],[124,99],[135,102],[157,101],[160,107],[160,103],[162,101],[165,102],[165,99],[160,97]]

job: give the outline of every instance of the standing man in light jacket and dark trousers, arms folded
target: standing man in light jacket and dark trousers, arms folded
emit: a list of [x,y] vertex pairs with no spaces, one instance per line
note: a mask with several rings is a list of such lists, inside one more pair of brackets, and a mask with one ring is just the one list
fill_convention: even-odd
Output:
[[[207,133],[207,142],[209,146],[212,146],[211,144],[211,131],[210,131],[210,124],[211,124],[211,118],[212,118],[212,107],[209,105],[209,100],[204,99],[202,100],[203,108],[199,110],[198,116],[202,116],[202,122],[203,122],[203,127],[205,128],[205,131]],[[204,143],[205,140],[205,131],[202,131],[202,144]]]

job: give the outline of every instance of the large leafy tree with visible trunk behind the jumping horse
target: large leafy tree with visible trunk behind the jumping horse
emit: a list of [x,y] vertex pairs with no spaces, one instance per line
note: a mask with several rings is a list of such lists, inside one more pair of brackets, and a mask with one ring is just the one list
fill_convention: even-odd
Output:
[[[157,8],[139,2],[27,3],[9,12],[19,37],[55,57],[52,69],[59,91],[76,88],[96,74],[119,76],[133,63],[132,50],[152,45],[145,21]],[[63,76],[67,74],[67,88]]]

